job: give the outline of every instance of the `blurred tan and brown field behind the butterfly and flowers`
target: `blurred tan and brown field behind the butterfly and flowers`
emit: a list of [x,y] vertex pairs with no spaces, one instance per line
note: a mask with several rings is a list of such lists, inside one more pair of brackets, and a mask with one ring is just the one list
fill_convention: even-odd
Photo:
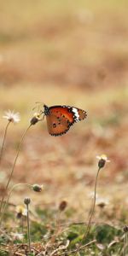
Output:
[[[49,136],[46,120],[33,126],[12,183],[44,183],[36,203],[67,198],[81,218],[94,189],[96,155],[107,154],[111,162],[101,172],[98,193],[127,207],[127,9],[126,0],[0,0],[0,143],[4,111],[21,117],[9,127],[1,193],[35,102],[67,104],[86,110],[88,118],[62,137]],[[19,193],[18,203],[26,189]]]

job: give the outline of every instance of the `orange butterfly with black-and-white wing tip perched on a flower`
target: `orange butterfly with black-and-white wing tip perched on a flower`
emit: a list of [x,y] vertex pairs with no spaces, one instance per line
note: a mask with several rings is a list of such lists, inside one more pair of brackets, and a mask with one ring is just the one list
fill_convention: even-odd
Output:
[[70,106],[52,106],[44,104],[44,115],[46,116],[48,131],[51,136],[61,136],[70,127],[87,117],[87,113],[80,109]]

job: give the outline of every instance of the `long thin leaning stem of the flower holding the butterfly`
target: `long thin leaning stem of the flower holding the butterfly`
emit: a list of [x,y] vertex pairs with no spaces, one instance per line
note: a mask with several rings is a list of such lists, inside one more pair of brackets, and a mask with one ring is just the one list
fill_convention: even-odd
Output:
[[[21,143],[22,143],[23,140],[24,140],[24,137],[25,137],[25,135],[26,135],[26,132],[29,130],[29,128],[30,128],[31,126],[32,126],[32,124],[29,125],[29,126],[26,128],[26,131],[24,131],[24,133],[23,133],[23,135],[22,135],[22,137],[21,137],[21,139],[20,139],[20,143],[19,143],[19,146],[18,146],[18,149],[17,149],[17,154],[16,154],[16,156],[15,156],[15,161],[14,161],[14,164],[13,164],[13,166],[12,166],[12,169],[11,169],[11,172],[10,172],[10,175],[9,175],[8,183],[6,184],[6,187],[5,187],[5,194],[6,194],[6,191],[7,191],[8,187],[9,187],[10,180],[11,180],[11,178],[12,178],[12,176],[13,176],[13,173],[14,173],[14,170],[15,170],[15,164],[16,164],[16,160],[18,159],[18,156],[19,156],[19,153],[20,153],[20,146],[21,146]],[[2,212],[2,207],[3,207],[3,201],[4,201],[5,194],[3,195],[3,198],[2,198],[2,201],[1,201],[0,213]]]

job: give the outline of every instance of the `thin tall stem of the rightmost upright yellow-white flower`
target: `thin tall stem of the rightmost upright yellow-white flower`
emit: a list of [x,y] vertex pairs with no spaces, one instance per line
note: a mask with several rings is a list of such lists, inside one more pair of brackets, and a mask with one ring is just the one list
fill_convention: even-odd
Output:
[[97,187],[97,180],[98,180],[98,175],[99,175],[100,170],[101,170],[101,168],[98,169],[97,174],[96,174],[96,182],[95,182],[95,189],[94,189],[94,200],[93,200],[92,208],[91,208],[91,210],[90,210],[90,216],[89,216],[89,222],[88,222],[88,224],[87,224],[87,229],[86,229],[86,231],[85,231],[85,233],[84,233],[84,236],[83,236],[83,238],[82,238],[82,241],[80,242],[79,247],[78,247],[76,253],[74,254],[74,256],[77,255],[77,253],[79,252],[79,248],[80,248],[81,245],[82,245],[82,242],[84,241],[84,239],[88,236],[88,234],[89,234],[89,232],[90,232],[91,219],[92,219],[92,217],[93,217],[93,213],[94,213],[94,211],[95,211],[95,205],[96,205],[96,187]]

